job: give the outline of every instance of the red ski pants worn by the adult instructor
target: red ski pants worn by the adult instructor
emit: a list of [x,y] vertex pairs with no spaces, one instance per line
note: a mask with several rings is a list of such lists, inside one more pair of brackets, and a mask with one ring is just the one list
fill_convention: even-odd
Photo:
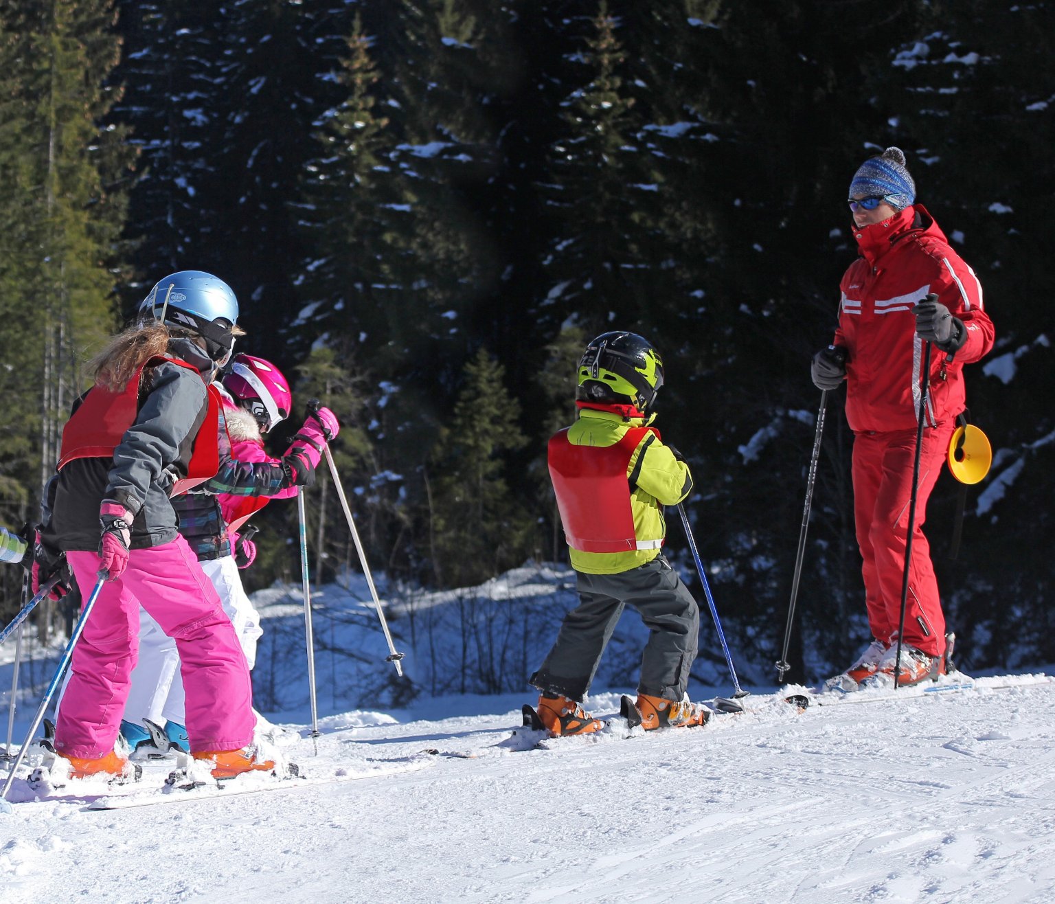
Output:
[[[923,430],[913,560],[902,642],[932,656],[945,652],[945,616],[938,581],[931,563],[931,546],[923,536],[926,502],[945,460],[956,424]],[[916,428],[891,432],[860,432],[853,437],[853,519],[864,564],[865,603],[872,636],[890,643],[898,634],[901,588],[905,571],[905,540],[916,458]]]

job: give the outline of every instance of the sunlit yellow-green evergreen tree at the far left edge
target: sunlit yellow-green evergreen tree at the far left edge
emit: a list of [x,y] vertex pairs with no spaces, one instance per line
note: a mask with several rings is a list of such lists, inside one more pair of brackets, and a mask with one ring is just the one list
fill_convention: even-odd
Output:
[[0,157],[11,167],[0,304],[9,316],[0,330],[11,404],[0,436],[9,501],[30,517],[23,506],[54,468],[61,423],[83,389],[82,354],[115,323],[131,154],[121,130],[100,124],[119,92],[106,86],[119,47],[111,0],[12,3],[3,17]]

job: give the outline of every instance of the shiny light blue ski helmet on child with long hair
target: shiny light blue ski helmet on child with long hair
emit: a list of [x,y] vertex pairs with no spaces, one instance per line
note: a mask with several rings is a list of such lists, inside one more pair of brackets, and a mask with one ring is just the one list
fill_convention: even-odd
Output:
[[151,319],[197,333],[209,357],[223,366],[234,349],[231,329],[238,321],[238,300],[212,273],[179,270],[158,280],[139,305],[139,320]]

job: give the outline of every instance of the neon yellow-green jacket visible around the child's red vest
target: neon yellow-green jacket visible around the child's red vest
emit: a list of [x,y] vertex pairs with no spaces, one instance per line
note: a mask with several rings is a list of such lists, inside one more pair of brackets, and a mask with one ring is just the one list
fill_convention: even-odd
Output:
[[[654,416],[653,416],[654,417]],[[615,445],[631,427],[642,427],[653,418],[624,419],[622,415],[582,408],[568,430],[568,441],[577,446]],[[638,460],[640,466],[638,467]],[[630,456],[627,477],[634,475],[630,506],[634,535],[638,540],[661,540],[667,535],[660,505],[676,505],[692,491],[692,475],[684,461],[653,434],[645,437]],[[569,549],[572,568],[591,575],[614,575],[652,561],[659,550],[629,550],[622,553],[584,553]]]

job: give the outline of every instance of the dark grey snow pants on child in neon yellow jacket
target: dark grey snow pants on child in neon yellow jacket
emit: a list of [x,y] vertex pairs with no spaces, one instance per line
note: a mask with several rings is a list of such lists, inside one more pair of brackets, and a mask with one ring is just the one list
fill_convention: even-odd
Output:
[[651,632],[637,692],[680,700],[696,658],[699,607],[670,563],[660,555],[629,572],[577,575],[579,604],[564,616],[532,685],[548,696],[559,694],[581,703],[615,624],[630,605]]

